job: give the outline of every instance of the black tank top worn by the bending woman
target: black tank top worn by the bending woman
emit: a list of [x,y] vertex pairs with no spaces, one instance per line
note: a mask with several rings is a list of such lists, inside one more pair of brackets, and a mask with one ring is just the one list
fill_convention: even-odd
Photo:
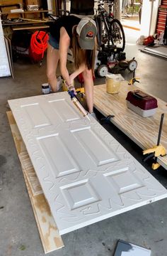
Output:
[[50,34],[59,42],[59,31],[60,28],[64,27],[67,31],[70,40],[72,39],[72,28],[74,25],[78,25],[81,18],[73,15],[62,16],[50,25]]

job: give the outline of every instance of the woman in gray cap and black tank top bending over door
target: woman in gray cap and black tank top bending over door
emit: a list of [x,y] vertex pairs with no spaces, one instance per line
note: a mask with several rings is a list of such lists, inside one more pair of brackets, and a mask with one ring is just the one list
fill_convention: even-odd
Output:
[[[53,92],[57,92],[56,70],[59,68],[69,90],[74,90],[73,80],[82,73],[88,112],[93,112],[93,73],[96,51],[96,23],[92,18],[62,16],[50,27],[47,47],[47,79]],[[74,73],[67,70],[67,53],[72,50]]]

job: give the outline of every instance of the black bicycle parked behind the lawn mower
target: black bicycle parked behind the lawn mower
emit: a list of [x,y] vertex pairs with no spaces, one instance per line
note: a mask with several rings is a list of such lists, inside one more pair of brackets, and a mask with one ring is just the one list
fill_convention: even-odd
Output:
[[96,15],[94,16],[98,28],[98,46],[107,46],[108,48],[116,47],[117,51],[121,52],[125,49],[125,33],[120,21],[114,18],[114,0],[105,2],[109,3],[109,11],[103,7],[103,3],[100,1]]

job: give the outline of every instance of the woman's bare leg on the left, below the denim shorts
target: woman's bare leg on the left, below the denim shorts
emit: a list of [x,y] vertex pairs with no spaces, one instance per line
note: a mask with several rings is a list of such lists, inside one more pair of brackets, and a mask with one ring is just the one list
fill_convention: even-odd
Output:
[[54,49],[50,46],[50,43],[47,45],[47,79],[52,88],[52,92],[57,92],[57,77],[56,70],[57,64],[59,61],[59,50]]

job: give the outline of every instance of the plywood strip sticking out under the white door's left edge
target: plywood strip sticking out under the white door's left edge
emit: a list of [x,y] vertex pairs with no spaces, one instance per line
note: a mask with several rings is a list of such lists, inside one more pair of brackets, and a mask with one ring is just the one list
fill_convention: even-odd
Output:
[[[16,144],[18,157],[21,161],[23,175],[25,177],[25,183],[28,188],[28,194],[30,196],[30,201],[33,207],[35,220],[38,225],[42,246],[44,248],[45,253],[52,252],[54,250],[64,247],[64,244],[61,236],[59,235],[57,225],[54,222],[54,219],[52,218],[52,214],[50,213],[50,208],[47,204],[44,194],[38,193],[34,195],[33,192],[31,191],[32,184],[30,186],[30,183],[31,183],[30,177],[32,177],[32,175],[29,177],[27,173],[29,171],[29,173],[32,174],[32,173],[35,173],[35,171],[30,162],[30,159],[28,159],[29,156],[26,151],[23,140],[21,139],[21,134],[18,131],[18,127],[15,122],[15,119],[13,118],[13,114],[11,111],[8,111],[6,113],[8,116],[9,124],[11,126],[13,139]],[[38,181],[38,184],[39,184],[39,181]],[[37,191],[39,191],[39,189],[37,189]]]

